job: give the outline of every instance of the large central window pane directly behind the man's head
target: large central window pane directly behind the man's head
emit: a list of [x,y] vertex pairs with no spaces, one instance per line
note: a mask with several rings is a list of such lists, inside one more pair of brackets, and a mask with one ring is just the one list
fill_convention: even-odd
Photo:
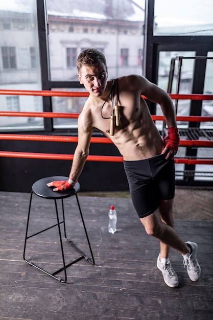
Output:
[[142,75],[145,0],[47,0],[51,80],[78,80],[76,59],[102,51],[108,76]]

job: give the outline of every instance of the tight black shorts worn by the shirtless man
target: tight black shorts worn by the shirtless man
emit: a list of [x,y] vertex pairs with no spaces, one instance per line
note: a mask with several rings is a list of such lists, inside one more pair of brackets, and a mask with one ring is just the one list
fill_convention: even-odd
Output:
[[165,154],[139,161],[124,161],[132,203],[139,216],[152,214],[159,200],[175,196],[175,163],[165,159]]

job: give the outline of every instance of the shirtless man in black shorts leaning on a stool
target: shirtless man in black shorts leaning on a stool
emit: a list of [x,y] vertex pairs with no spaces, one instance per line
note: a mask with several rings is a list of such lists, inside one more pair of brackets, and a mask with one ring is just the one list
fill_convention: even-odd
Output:
[[[56,187],[54,191],[73,188],[89,154],[92,132],[97,128],[111,139],[124,158],[134,208],[147,234],[160,241],[157,267],[165,283],[170,287],[178,286],[178,277],[169,261],[170,247],[182,254],[188,276],[197,281],[201,273],[197,244],[184,242],[173,228],[173,157],[178,150],[179,133],[172,100],[139,75],[107,81],[105,56],[96,49],[84,50],[78,57],[77,67],[79,81],[89,92],[78,119],[78,145],[69,179],[52,181],[48,187]],[[164,141],[141,95],[160,104],[169,128]],[[119,106],[119,111],[115,111],[115,106]]]

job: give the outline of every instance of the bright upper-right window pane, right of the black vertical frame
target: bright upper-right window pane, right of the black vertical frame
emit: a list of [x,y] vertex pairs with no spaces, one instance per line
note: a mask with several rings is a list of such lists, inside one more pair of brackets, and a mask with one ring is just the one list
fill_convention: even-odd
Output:
[[213,35],[212,0],[155,0],[154,35]]

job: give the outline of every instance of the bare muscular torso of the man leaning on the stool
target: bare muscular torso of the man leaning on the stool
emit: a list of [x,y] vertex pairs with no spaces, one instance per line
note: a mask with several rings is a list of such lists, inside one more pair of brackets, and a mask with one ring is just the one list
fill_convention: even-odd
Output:
[[[111,80],[110,80],[111,81]],[[140,89],[134,83],[134,77],[121,77],[117,79],[114,94],[107,101],[88,98],[85,110],[90,109],[92,127],[97,128],[111,139],[127,161],[140,160],[160,154],[163,142],[157,130],[149,108],[141,98]],[[110,83],[111,85],[111,83]],[[119,93],[119,101],[117,99]],[[121,125],[116,127],[114,135],[110,135],[110,115],[113,105],[120,108]]]

